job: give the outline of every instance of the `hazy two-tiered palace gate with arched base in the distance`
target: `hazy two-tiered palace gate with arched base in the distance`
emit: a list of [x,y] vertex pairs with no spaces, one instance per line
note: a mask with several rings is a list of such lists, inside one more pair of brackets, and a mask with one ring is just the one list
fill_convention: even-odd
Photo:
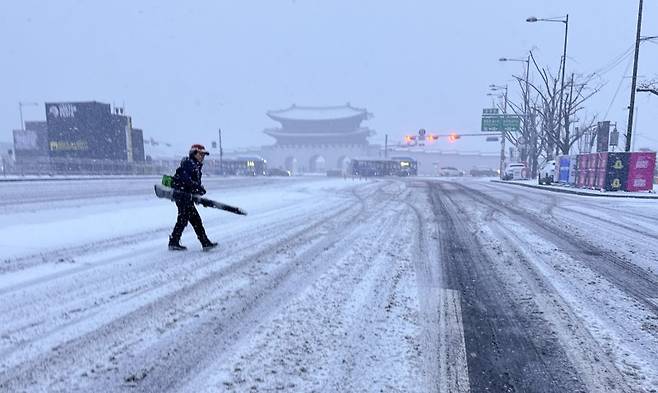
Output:
[[275,139],[263,146],[262,155],[270,168],[293,173],[344,169],[351,158],[377,156],[380,147],[368,137],[374,131],[361,123],[372,117],[366,109],[344,106],[296,106],[269,111],[267,116],[280,127],[264,133]]

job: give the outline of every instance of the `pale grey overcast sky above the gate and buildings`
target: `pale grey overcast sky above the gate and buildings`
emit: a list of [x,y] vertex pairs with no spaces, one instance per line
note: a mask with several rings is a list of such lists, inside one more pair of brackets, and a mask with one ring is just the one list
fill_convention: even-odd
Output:
[[[183,151],[210,144],[218,127],[227,149],[271,144],[262,130],[277,124],[265,112],[293,103],[365,107],[374,143],[421,127],[479,131],[487,86],[523,72],[499,57],[533,49],[557,71],[563,25],[525,19],[566,13],[567,72],[601,69],[634,43],[631,0],[3,0],[0,141],[19,127],[19,101],[40,103],[26,120],[44,119],[46,101],[125,103],[146,137]],[[645,1],[643,35],[658,35],[656,1]],[[631,61],[601,76],[587,107],[622,131]],[[642,45],[639,69],[658,77],[658,41]],[[637,147],[658,148],[658,97],[638,94],[637,106]],[[450,148],[497,149],[479,139]]]

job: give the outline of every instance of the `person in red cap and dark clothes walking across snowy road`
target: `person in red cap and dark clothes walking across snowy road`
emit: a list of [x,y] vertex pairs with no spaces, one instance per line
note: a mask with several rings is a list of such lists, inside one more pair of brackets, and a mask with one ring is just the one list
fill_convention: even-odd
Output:
[[169,236],[169,250],[171,251],[187,250],[187,247],[180,244],[180,238],[188,222],[192,224],[192,228],[194,228],[204,251],[217,247],[216,242],[208,239],[201,216],[192,201],[192,194],[204,195],[206,193],[206,189],[201,185],[201,168],[207,155],[210,155],[210,153],[203,145],[192,145],[189,155],[183,158],[180,167],[176,169],[176,174],[173,176],[172,188],[182,192],[175,194],[178,218],[174,230]]

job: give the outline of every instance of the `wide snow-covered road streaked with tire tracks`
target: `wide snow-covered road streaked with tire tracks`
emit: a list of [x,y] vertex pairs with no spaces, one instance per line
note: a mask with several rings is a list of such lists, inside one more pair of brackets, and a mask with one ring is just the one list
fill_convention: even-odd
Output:
[[[658,203],[459,179],[0,184],[0,391],[658,386]],[[125,187],[118,196],[113,190]]]

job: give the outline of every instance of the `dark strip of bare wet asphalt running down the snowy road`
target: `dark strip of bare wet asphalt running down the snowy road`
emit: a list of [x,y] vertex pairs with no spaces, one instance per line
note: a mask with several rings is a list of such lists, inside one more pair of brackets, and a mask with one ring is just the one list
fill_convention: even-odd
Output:
[[[448,184],[452,186],[448,186]],[[484,251],[462,206],[456,183],[430,183],[439,223],[444,281],[461,294],[470,387],[474,391],[553,392],[584,390],[541,321],[520,313],[493,275],[495,261]],[[568,368],[567,368],[568,370]]]

